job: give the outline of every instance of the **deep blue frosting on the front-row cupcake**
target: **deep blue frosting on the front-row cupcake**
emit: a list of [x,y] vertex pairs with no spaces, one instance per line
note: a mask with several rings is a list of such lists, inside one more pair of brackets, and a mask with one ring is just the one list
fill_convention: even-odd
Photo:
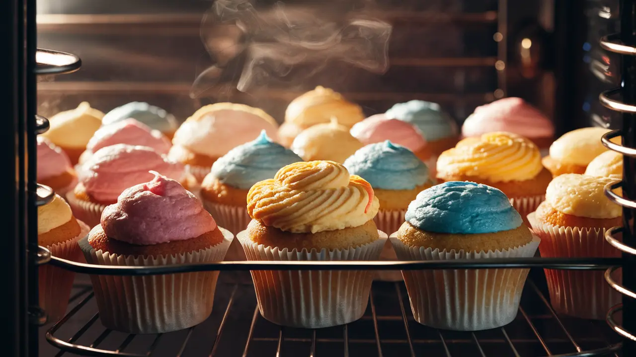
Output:
[[404,218],[421,231],[451,234],[509,231],[523,223],[504,192],[462,181],[444,182],[420,192]]

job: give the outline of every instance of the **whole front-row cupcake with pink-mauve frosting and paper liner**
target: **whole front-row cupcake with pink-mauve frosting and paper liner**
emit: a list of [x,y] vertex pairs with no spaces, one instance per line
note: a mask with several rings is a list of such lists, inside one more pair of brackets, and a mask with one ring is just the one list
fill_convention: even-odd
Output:
[[[232,233],[218,227],[179,182],[156,172],[107,206],[79,241],[86,262],[100,266],[166,266],[223,260]],[[104,327],[163,333],[192,327],[212,312],[218,271],[156,276],[92,275]]]

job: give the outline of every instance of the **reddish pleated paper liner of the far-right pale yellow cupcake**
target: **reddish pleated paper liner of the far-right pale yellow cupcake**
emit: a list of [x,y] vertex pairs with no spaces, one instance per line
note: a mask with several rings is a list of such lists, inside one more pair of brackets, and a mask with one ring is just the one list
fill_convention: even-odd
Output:
[[[620,251],[605,241],[605,229],[561,227],[540,224],[530,215],[534,233],[541,237],[541,257],[620,257]],[[610,307],[621,302],[621,294],[607,282],[604,271],[544,269],[550,302],[557,313],[577,318],[605,320]],[[621,281],[621,273],[615,273]]]

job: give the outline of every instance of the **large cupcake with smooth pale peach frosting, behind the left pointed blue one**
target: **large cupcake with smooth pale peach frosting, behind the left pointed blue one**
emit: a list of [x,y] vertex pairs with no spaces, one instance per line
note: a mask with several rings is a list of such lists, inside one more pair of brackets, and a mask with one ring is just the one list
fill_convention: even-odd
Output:
[[168,155],[187,165],[200,182],[214,161],[254,140],[261,130],[277,139],[276,121],[261,109],[232,103],[205,105],[179,126]]

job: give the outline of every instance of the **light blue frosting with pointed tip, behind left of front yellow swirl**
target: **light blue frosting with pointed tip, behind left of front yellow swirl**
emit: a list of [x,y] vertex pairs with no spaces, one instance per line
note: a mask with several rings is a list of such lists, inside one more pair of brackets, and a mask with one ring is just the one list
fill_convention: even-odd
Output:
[[285,165],[303,161],[293,151],[276,144],[261,131],[251,142],[239,145],[212,165],[212,176],[223,184],[249,189],[256,182],[271,179]]

